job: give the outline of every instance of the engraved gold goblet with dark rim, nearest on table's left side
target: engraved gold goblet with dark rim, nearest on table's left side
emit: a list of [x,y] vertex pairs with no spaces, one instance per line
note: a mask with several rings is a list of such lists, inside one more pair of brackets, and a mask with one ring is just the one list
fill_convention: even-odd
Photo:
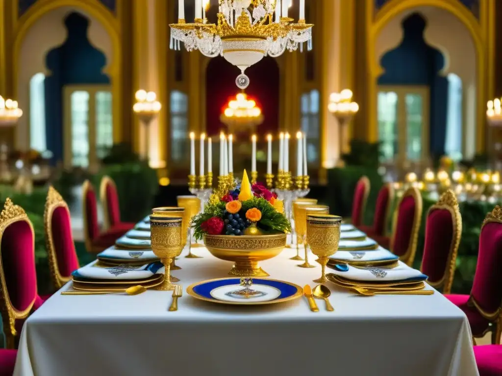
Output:
[[152,251],[164,264],[164,281],[157,287],[157,290],[174,290],[171,283],[171,263],[176,256],[179,256],[182,245],[183,218],[167,217],[159,214],[150,216],[150,237]]

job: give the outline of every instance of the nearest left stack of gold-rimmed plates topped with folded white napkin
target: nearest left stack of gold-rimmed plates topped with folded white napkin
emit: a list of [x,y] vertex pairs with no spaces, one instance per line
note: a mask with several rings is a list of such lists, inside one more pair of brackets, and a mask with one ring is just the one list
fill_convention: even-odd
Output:
[[161,262],[141,266],[102,265],[99,261],[86,265],[72,273],[73,288],[82,291],[124,290],[141,285],[149,288],[160,285],[164,267]]

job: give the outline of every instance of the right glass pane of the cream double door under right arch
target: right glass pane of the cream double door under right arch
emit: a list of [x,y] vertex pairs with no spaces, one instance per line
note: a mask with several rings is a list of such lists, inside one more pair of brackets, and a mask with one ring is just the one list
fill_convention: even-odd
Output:
[[418,161],[422,156],[423,98],[420,94],[406,94],[406,156]]

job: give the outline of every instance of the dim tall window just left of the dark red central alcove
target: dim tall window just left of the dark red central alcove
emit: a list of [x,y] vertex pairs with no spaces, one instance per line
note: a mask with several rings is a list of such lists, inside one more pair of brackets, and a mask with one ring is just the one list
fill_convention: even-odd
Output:
[[171,92],[171,159],[182,162],[188,153],[188,96],[177,90]]

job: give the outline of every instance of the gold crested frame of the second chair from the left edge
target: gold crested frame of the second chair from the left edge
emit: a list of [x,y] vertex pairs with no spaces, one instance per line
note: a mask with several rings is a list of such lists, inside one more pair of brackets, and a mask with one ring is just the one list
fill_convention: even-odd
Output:
[[[44,211],[44,230],[47,254],[49,257],[49,269],[51,271],[52,283],[56,289],[60,289],[66,282],[71,280],[71,277],[64,277],[59,271],[58,258],[56,255],[56,248],[54,247],[54,240],[52,234],[52,216],[57,208],[64,208],[70,217],[70,210],[68,204],[63,200],[58,191],[51,185],[45,201]],[[73,251],[75,251],[75,244],[73,243]]]

